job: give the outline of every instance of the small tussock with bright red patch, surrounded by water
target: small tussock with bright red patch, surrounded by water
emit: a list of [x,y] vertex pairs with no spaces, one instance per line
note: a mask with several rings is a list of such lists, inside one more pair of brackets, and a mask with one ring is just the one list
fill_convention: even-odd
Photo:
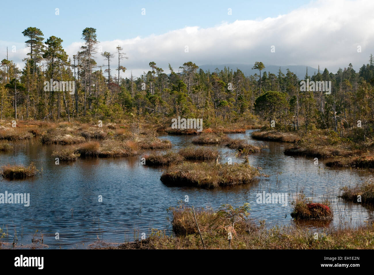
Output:
[[291,217],[294,219],[332,220],[333,214],[328,201],[323,204],[314,203],[307,199],[304,194],[300,194],[292,202],[292,205],[294,205],[294,211],[291,213]]

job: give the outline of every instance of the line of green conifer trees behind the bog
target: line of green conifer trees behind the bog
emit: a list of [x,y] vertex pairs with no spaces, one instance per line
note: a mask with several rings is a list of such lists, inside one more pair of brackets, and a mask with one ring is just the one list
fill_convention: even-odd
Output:
[[[374,120],[374,60],[359,72],[352,64],[334,74],[327,68],[304,79],[279,68],[278,74],[266,72],[262,62],[258,70],[245,76],[236,68],[203,71],[191,62],[165,72],[153,61],[150,70],[140,77],[119,77],[128,58],[123,48],[99,52],[95,28],[82,31],[83,46],[68,56],[63,40],[45,39],[36,27],[22,32],[29,48],[22,70],[8,60],[0,67],[0,116],[34,120],[67,120],[79,118],[123,120],[140,116],[165,122],[170,117],[203,118],[205,126],[233,123],[259,117],[275,120],[279,129],[307,132],[313,127],[331,129],[344,135],[362,121],[365,134]],[[103,64],[95,60],[102,58]],[[75,81],[74,94],[59,89],[45,91],[45,82]],[[300,91],[300,81],[331,81],[331,94],[322,91]]]

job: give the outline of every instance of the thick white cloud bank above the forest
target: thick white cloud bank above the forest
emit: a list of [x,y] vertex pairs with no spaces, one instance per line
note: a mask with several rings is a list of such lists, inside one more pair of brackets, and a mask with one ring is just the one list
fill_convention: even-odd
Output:
[[[140,76],[149,70],[150,61],[166,73],[169,73],[168,63],[177,71],[187,61],[198,65],[255,61],[265,65],[320,65],[322,70],[327,67],[335,73],[338,67],[347,67],[349,63],[358,70],[374,54],[373,10],[371,0],[316,1],[276,18],[223,22],[210,28],[188,26],[161,35],[116,39],[100,45],[103,51],[113,53],[117,45],[123,47],[129,57],[121,62],[127,68],[126,76],[131,70],[134,76]],[[4,43],[0,41],[0,45]],[[66,48],[69,56],[81,45],[82,42],[69,45]],[[274,53],[270,52],[272,45]],[[362,47],[361,53],[357,52],[358,45]],[[25,52],[16,55],[21,60]],[[96,59],[99,65],[104,65],[99,54]],[[112,62],[115,67],[116,59]]]

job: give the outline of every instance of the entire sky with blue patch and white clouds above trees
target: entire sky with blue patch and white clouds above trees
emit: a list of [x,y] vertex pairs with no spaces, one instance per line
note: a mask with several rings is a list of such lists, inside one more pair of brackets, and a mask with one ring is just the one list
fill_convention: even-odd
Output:
[[[120,45],[128,56],[122,77],[140,76],[150,61],[166,73],[169,63],[178,71],[188,61],[319,65],[333,73],[352,63],[357,71],[374,54],[372,0],[21,0],[1,7],[0,60],[8,47],[19,67],[29,52],[22,34],[27,27],[42,30],[45,40],[63,39],[69,56],[83,45],[82,30],[96,28],[99,51],[114,53]],[[96,62],[105,64],[100,54]]]

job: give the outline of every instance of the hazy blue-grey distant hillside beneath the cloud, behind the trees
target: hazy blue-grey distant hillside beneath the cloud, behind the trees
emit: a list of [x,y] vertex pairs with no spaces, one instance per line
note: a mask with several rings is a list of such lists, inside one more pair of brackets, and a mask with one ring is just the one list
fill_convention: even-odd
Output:
[[[254,66],[254,64],[220,64],[220,65],[205,64],[205,65],[200,65],[199,68],[201,68],[204,71],[209,70],[211,72],[214,72],[214,70],[216,68],[218,68],[219,70],[223,70],[225,66],[226,66],[226,68],[229,67],[230,70],[233,70],[233,71],[235,71],[236,68],[238,68],[239,70],[241,70],[245,74],[245,76],[250,76],[251,74],[255,74],[255,73],[258,74],[259,73],[258,70],[252,70],[252,67]],[[304,66],[304,65],[278,66],[278,65],[266,65],[266,64],[265,64],[265,69],[263,71],[266,71],[266,73],[270,72],[270,73],[278,75],[279,67],[281,67],[282,73],[286,74],[287,69],[289,69],[290,71],[292,71],[292,73],[296,74],[300,79],[304,78],[304,76],[306,74],[306,67],[308,67],[308,75],[309,76],[312,76],[314,74],[314,72],[317,73],[317,71],[318,71],[318,69],[316,69],[316,68],[309,67],[309,66]],[[321,73],[323,72],[323,70],[324,70],[324,68],[322,69],[322,71],[321,71],[321,68],[320,68]]]

